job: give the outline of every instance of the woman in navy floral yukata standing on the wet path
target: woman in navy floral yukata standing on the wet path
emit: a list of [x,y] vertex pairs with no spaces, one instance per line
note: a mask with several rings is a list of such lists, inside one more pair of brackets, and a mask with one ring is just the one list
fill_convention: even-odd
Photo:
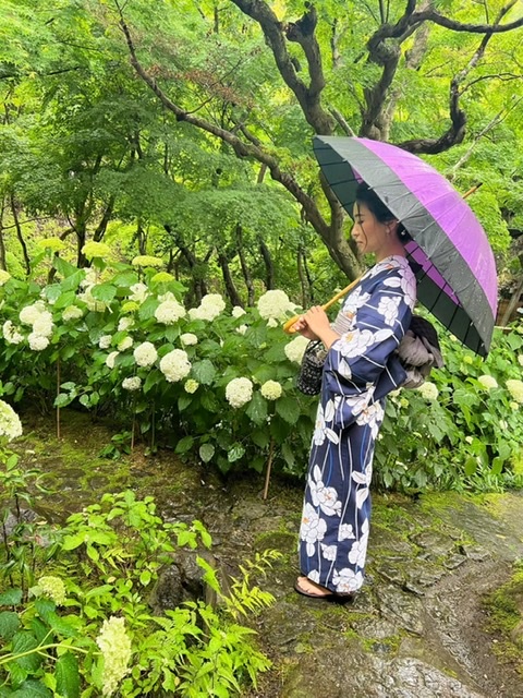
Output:
[[[352,237],[376,264],[345,298],[331,325],[319,306],[294,328],[327,350],[300,529],[299,593],[343,600],[364,579],[373,456],[385,395],[406,374],[394,350],[409,329],[416,281],[402,226],[361,183]],[[341,599],[340,599],[341,598]]]

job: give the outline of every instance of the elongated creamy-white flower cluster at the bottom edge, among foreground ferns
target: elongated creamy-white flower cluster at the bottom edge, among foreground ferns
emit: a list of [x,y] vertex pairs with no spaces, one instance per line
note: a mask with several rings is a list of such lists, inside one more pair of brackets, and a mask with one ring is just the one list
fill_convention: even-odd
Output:
[[131,639],[125,631],[125,619],[111,616],[104,621],[96,643],[104,657],[101,694],[112,696],[120,687],[122,678],[129,674],[131,661]]

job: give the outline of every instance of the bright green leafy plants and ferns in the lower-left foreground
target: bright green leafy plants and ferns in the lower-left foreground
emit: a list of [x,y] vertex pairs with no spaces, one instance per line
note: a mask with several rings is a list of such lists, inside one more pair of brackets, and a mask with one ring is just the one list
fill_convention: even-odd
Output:
[[[196,555],[220,607],[191,601],[159,616],[147,604],[147,590],[178,549],[210,547],[199,521],[167,524],[153,497],[138,501],[127,491],[104,495],[70,516],[56,534],[52,575],[41,576],[37,568],[29,599],[16,587],[0,594],[2,698],[89,698],[115,690],[131,698],[161,689],[186,698],[228,698],[247,683],[256,685],[258,673],[268,669],[253,646],[254,631],[238,616],[252,616],[273,601],[251,575],[264,575],[278,553],[266,551],[246,563],[229,594],[216,570]],[[20,540],[10,544],[17,547]]]

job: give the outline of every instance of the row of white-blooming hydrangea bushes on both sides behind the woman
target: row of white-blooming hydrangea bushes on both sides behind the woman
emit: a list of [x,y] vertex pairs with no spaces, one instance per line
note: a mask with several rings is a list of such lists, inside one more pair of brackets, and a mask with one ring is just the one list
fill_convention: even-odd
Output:
[[[255,308],[209,293],[186,309],[184,288],[154,265],[77,269],[57,280],[2,277],[3,394],[57,409],[81,404],[133,435],[172,446],[222,472],[276,468],[303,474],[316,399],[295,388],[307,345],[281,325],[295,312],[281,290]],[[147,260],[145,260],[147,262]],[[447,365],[387,404],[376,452],[384,486],[473,486],[522,474],[523,336],[497,330],[486,360],[440,332]],[[401,438],[398,435],[401,434]]]

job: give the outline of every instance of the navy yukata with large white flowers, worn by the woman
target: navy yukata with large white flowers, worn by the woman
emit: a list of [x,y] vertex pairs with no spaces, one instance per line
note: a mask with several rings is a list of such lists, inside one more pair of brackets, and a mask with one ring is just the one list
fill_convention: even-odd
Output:
[[[363,585],[370,480],[385,399],[376,384],[409,328],[416,284],[406,260],[369,269],[340,313],[350,328],[325,362],[300,529],[300,567],[312,581],[349,593]],[[346,322],[346,320],[345,320]]]

